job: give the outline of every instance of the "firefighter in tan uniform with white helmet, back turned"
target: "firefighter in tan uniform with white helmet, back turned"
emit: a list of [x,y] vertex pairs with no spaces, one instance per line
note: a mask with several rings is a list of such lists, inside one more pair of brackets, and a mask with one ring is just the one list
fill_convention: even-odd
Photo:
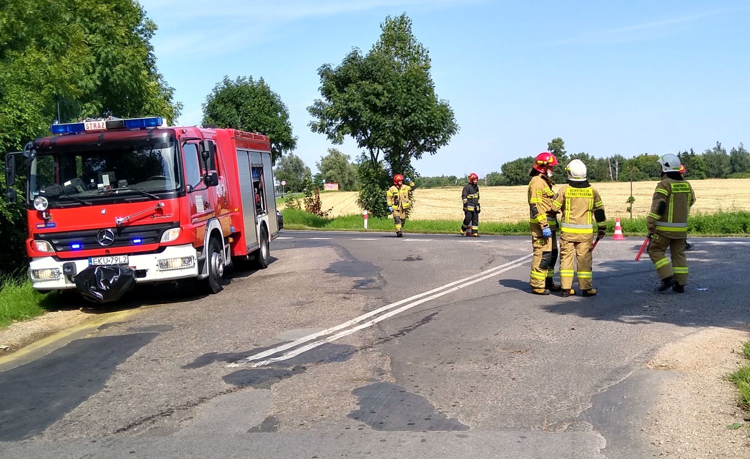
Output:
[[[596,239],[604,237],[607,217],[601,196],[586,179],[586,164],[572,160],[565,167],[568,184],[562,185],[552,203],[560,217],[560,285],[562,296],[574,296],[573,275],[577,274],[578,287],[583,296],[594,296],[591,269],[593,221],[596,221]],[[575,266],[573,264],[575,260]]]

